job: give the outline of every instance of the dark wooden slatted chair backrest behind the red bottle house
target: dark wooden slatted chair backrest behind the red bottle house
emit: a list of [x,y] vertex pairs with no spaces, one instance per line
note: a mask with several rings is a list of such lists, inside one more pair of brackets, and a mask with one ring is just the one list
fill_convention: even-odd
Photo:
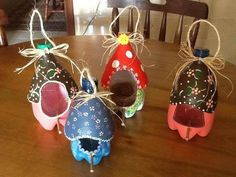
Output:
[[[112,9],[112,19],[118,14],[118,8],[124,8],[128,5],[135,5],[139,9],[145,10],[145,21],[144,21],[144,37],[150,37],[150,11],[162,12],[162,21],[159,32],[159,40],[165,41],[166,38],[166,26],[167,26],[167,14],[178,14],[179,21],[175,32],[173,43],[180,44],[181,35],[183,31],[183,18],[184,16],[193,17],[193,21],[198,19],[208,18],[208,5],[203,2],[196,2],[191,0],[166,0],[164,5],[153,4],[149,0],[107,0],[107,6]],[[113,27],[113,32],[119,32],[119,20],[117,20]],[[199,30],[199,23],[191,31],[191,46],[194,47]],[[133,32],[133,9],[129,10],[128,16],[128,31]]]

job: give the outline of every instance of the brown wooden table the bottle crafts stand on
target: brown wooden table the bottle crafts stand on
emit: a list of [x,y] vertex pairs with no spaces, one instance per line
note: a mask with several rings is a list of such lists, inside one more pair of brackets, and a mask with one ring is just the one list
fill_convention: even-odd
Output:
[[[59,44],[70,45],[68,55],[84,58],[91,73],[100,78],[99,66],[104,52],[102,36],[57,38]],[[149,40],[152,52],[140,55],[146,65],[150,85],[146,89],[145,106],[127,128],[119,126],[112,141],[111,155],[89,172],[89,165],[77,162],[70,152],[69,141],[56,129],[47,132],[32,114],[26,99],[33,66],[22,74],[16,67],[28,59],[18,54],[18,48],[28,43],[0,48],[0,176],[1,177],[234,177],[236,176],[236,93],[229,99],[227,82],[220,80],[219,104],[214,127],[206,138],[182,140],[167,126],[169,93],[174,75],[167,76],[178,61],[178,45]],[[236,86],[236,66],[224,70]],[[220,78],[220,77],[219,77]],[[77,79],[78,81],[78,79]]]

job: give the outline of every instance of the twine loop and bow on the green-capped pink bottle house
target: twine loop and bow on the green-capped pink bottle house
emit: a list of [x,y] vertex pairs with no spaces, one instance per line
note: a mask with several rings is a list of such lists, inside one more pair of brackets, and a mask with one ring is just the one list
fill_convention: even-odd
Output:
[[[41,33],[42,35],[44,36],[44,38],[50,42],[52,44],[52,48],[51,49],[37,49],[34,45],[34,40],[33,40],[33,21],[34,21],[34,17],[35,15],[38,15],[39,17],[39,21],[40,21],[40,28],[41,28]],[[44,56],[45,54],[53,54],[55,56],[58,56],[60,58],[63,58],[63,59],[66,59],[70,62],[71,64],[71,68],[72,68],[72,72],[74,72],[73,70],[73,67],[75,67],[79,73],[81,73],[81,70],[80,68],[74,63],[74,61],[66,56],[66,53],[67,53],[67,49],[69,48],[69,44],[67,43],[62,43],[62,44],[59,44],[59,45],[56,45],[49,37],[48,35],[46,34],[45,30],[44,30],[44,26],[43,26],[43,20],[42,20],[42,16],[41,14],[39,13],[39,11],[37,9],[34,9],[33,10],[33,13],[31,15],[31,19],[30,19],[30,42],[31,42],[31,46],[32,48],[28,48],[28,49],[23,49],[23,50],[20,50],[19,53],[24,56],[24,57],[27,57],[27,58],[32,58],[26,65],[24,65],[23,67],[20,67],[20,68],[16,68],[15,69],[15,72],[17,72],[18,74],[20,74],[25,68],[27,68],[28,66],[30,66],[31,64],[34,64],[34,67],[35,67],[35,72],[36,72],[36,69],[37,69],[37,61],[42,57]]]

